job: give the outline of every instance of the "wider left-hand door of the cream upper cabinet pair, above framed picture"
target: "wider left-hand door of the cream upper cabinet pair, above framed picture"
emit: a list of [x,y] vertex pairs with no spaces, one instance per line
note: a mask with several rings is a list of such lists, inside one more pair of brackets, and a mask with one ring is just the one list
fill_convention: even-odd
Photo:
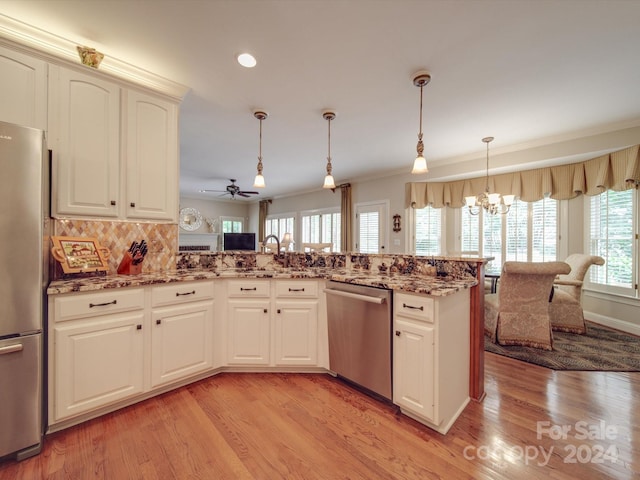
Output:
[[120,87],[62,67],[49,71],[54,216],[117,217]]

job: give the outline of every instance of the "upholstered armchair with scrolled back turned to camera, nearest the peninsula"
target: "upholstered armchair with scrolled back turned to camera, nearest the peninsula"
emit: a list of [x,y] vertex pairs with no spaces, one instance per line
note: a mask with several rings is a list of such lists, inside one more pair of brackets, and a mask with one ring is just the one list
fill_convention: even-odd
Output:
[[501,345],[553,349],[549,305],[565,262],[505,262],[498,293],[484,297],[485,335]]

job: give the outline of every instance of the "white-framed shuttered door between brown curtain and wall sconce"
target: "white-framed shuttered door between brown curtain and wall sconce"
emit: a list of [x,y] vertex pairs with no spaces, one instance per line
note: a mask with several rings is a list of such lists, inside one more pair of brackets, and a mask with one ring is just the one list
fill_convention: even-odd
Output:
[[359,203],[356,211],[356,251],[385,253],[387,242],[387,211],[385,202]]

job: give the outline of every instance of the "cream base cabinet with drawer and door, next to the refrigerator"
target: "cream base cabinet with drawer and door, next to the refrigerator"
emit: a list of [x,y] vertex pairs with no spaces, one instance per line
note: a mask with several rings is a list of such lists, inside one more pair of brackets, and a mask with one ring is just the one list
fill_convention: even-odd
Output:
[[50,422],[143,391],[141,289],[60,296],[52,303]]

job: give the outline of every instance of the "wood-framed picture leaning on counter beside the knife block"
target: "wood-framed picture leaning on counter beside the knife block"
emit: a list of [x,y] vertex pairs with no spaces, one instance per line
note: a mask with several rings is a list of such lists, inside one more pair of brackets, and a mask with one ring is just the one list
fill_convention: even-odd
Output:
[[109,249],[90,237],[51,237],[51,254],[64,273],[104,272],[108,270]]

